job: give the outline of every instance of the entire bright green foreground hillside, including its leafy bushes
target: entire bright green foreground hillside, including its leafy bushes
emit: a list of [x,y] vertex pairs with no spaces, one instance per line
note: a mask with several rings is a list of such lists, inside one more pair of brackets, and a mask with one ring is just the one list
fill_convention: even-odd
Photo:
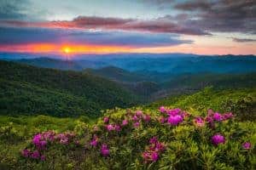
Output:
[[[95,121],[86,117],[0,116],[0,168],[253,169],[255,97],[255,88],[206,88],[196,94],[162,99],[151,105],[106,111],[104,117],[109,117],[109,122],[103,122],[103,117]],[[189,115],[176,126],[162,123],[160,119],[166,113],[158,110],[161,105],[168,109],[179,107]],[[213,122],[214,127],[207,122],[197,125],[195,119],[207,117],[208,109],[223,115],[234,111],[235,116]],[[123,125],[124,120],[128,124]],[[109,125],[120,127],[109,127],[109,130]],[[55,135],[56,139],[47,140],[47,147],[39,150],[43,158],[26,157],[24,150],[29,153],[38,150],[33,141],[36,142],[37,133],[46,134],[42,132]],[[223,143],[212,143],[212,138],[218,134],[224,136]],[[68,142],[61,142],[60,135]],[[93,141],[96,143],[91,143]],[[245,147],[247,142],[251,145]],[[106,147],[102,148],[104,144]],[[156,156],[151,158],[153,153]]]

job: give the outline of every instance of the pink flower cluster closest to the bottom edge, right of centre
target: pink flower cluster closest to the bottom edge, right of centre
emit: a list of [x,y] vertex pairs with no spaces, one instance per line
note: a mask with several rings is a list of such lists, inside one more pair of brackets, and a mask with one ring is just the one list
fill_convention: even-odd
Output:
[[146,151],[143,152],[143,159],[145,162],[158,161],[160,154],[166,150],[166,146],[160,143],[157,137],[153,137],[149,140],[149,146]]

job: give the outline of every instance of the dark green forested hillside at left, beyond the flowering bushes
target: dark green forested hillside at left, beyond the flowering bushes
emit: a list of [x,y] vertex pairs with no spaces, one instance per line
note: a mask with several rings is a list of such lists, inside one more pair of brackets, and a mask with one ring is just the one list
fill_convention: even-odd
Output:
[[1,115],[98,116],[138,101],[119,84],[91,74],[0,61]]

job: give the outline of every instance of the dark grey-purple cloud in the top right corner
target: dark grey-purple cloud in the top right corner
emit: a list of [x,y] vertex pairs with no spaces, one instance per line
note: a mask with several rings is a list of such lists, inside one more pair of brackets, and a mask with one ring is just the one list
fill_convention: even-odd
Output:
[[177,3],[176,9],[191,12],[185,26],[195,26],[203,31],[256,33],[256,1],[187,1]]

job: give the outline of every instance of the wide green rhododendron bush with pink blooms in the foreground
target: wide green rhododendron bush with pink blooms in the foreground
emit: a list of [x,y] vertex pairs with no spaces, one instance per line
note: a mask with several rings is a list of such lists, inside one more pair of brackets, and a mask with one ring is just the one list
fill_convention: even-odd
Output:
[[79,132],[35,134],[20,150],[24,168],[253,169],[255,164],[255,125],[244,127],[230,112],[116,109],[96,124],[78,126]]

